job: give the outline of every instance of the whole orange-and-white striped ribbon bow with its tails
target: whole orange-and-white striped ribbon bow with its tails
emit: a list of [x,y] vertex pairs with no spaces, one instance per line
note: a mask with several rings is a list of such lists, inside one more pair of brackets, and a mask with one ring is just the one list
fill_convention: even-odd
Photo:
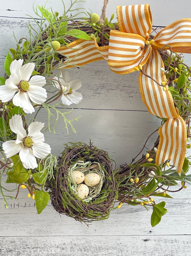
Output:
[[68,65],[65,62],[61,68],[105,59],[113,72],[127,74],[141,64],[144,73],[157,81],[140,73],[142,100],[151,114],[167,118],[159,129],[156,164],[172,160],[181,173],[186,153],[186,124],[175,109],[168,86],[165,86],[165,91],[160,86],[162,82],[167,84],[167,78],[161,71],[164,63],[157,49],[169,45],[172,51],[191,53],[191,19],[172,23],[149,41],[152,15],[148,4],[118,6],[117,17],[120,31],[110,31],[109,46],[99,47],[94,38],[92,41],[76,40],[67,48],[63,46],[58,50],[70,60]]

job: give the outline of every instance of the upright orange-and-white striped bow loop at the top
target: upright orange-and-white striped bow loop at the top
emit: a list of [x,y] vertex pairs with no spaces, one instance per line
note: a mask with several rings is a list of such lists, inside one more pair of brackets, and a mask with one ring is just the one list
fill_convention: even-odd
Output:
[[149,39],[152,29],[152,15],[149,4],[117,6],[120,31],[138,34]]

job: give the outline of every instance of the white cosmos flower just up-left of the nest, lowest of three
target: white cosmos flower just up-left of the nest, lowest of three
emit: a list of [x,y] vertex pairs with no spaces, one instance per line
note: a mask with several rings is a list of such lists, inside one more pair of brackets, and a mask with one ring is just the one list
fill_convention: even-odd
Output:
[[16,140],[8,140],[2,144],[6,157],[19,153],[20,160],[25,168],[36,168],[38,165],[35,157],[42,159],[51,153],[51,147],[44,143],[44,134],[40,132],[44,123],[31,123],[27,134],[23,127],[22,117],[14,115],[9,120],[9,126],[17,137]]

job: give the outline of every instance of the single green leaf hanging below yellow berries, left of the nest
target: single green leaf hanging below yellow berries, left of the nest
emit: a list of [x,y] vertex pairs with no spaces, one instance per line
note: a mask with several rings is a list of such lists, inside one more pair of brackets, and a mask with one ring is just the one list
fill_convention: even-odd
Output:
[[48,202],[50,201],[51,197],[48,194],[48,192],[45,191],[36,191],[35,194],[35,204],[37,207],[37,212],[40,214],[44,208],[48,205]]

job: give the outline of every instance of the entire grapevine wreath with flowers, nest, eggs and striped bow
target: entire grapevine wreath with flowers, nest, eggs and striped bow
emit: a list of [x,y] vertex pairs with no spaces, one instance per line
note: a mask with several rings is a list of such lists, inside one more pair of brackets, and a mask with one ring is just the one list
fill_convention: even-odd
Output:
[[[79,9],[71,15],[77,2],[71,2],[68,10],[63,2],[62,16],[38,6],[34,12],[39,19],[33,18],[38,31],[29,23],[29,38],[17,41],[16,49],[6,55],[6,75],[0,77],[0,181],[6,175],[7,183],[17,184],[16,198],[21,188],[28,189],[38,214],[51,199],[60,214],[90,222],[106,219],[113,208],[128,203],[152,206],[155,226],[167,210],[164,201],[157,203],[154,198],[170,198],[168,192],[191,182],[186,174],[191,163],[185,157],[191,146],[191,68],[181,54],[191,53],[191,19],[152,28],[147,4],[118,6],[118,23],[112,23],[114,14],[110,21],[105,18],[108,1],[101,18]],[[67,69],[96,60],[105,60],[111,71],[121,75],[140,72],[142,100],[161,119],[153,148],[119,169],[91,141],[65,144],[58,157],[44,142],[42,130],[54,131],[59,116],[67,130],[70,125],[75,131],[73,120],[57,107],[82,100],[77,91],[81,81],[71,80]],[[47,111],[46,129],[36,121],[42,108]],[[57,118],[51,124],[53,111]],[[179,188],[173,189],[176,185]],[[4,192],[1,182],[0,193],[8,207]]]

